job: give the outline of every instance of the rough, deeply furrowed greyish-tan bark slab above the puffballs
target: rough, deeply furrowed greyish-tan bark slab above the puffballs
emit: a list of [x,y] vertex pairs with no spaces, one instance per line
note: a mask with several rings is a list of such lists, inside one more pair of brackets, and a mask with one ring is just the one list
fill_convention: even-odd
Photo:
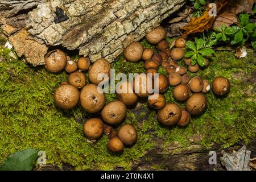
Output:
[[[163,19],[185,3],[184,0],[34,2],[38,6],[26,18],[26,27],[33,39],[47,46],[61,45],[70,50],[79,49],[80,55],[89,56],[92,61],[105,57],[110,62],[129,43],[142,39],[148,31],[159,26]],[[17,7],[10,5],[11,1],[1,1],[0,11],[4,3],[8,4],[6,14],[9,17]],[[10,10],[11,7],[13,9]],[[61,13],[65,18],[57,20],[56,16]],[[42,60],[39,63],[42,64]]]

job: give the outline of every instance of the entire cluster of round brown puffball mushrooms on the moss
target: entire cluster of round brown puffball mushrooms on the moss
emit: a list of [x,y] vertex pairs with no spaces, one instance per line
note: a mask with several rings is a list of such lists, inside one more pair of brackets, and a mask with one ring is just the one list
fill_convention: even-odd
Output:
[[[104,92],[99,93],[97,86],[104,79],[98,80],[99,74],[105,73],[110,78],[111,65],[108,60],[97,59],[91,65],[86,57],[71,60],[59,49],[48,52],[45,56],[47,71],[58,73],[65,69],[69,73],[68,82],[61,82],[55,90],[55,104],[60,109],[67,110],[80,102],[82,109],[87,113],[100,112],[101,118],[90,118],[84,123],[84,135],[90,141],[96,142],[105,133],[109,137],[108,148],[112,152],[122,152],[125,146],[131,146],[137,141],[137,131],[133,125],[119,125],[126,117],[127,106],[135,106],[139,97],[148,98],[148,106],[158,110],[158,121],[163,125],[188,125],[191,115],[199,115],[206,109],[207,98],[204,93],[209,92],[210,84],[209,81],[197,76],[190,78],[187,68],[179,66],[178,61],[184,57],[186,39],[176,39],[175,48],[169,49],[165,38],[166,30],[159,26],[146,35],[147,42],[156,45],[158,53],[154,53],[151,48],[143,48],[139,42],[132,42],[125,48],[123,52],[125,59],[130,62],[143,60],[146,73],[152,75],[146,76],[146,80],[141,78],[142,74],[138,74],[138,78],[134,78],[131,82],[122,81],[119,89],[125,86],[127,92],[117,92],[118,100],[108,104],[105,104]],[[190,59],[184,61],[190,72],[195,73],[199,70],[199,65],[190,65]],[[205,66],[208,62],[205,59]],[[160,65],[166,69],[168,77],[163,74],[154,77]],[[87,71],[90,84],[86,84],[84,72]],[[159,93],[144,93],[143,88],[147,88],[150,83],[154,85],[156,80],[159,82]],[[175,100],[185,102],[185,110],[175,103],[166,103],[163,93],[169,85],[175,86],[173,96]],[[139,88],[139,92],[135,93],[134,88]],[[224,96],[229,92],[230,82],[225,77],[216,77],[212,89],[217,96]],[[118,130],[115,129],[116,127]]]

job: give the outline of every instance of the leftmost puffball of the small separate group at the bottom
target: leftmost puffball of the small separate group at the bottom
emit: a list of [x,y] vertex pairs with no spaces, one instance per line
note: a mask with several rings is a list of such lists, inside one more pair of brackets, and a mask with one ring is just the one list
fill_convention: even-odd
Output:
[[104,124],[100,118],[90,118],[84,123],[84,135],[89,139],[101,137],[104,131]]

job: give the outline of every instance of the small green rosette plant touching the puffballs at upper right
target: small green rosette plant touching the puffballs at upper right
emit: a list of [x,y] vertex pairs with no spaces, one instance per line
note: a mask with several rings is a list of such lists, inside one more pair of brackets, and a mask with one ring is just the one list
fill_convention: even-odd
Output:
[[188,51],[185,57],[191,57],[191,65],[198,63],[201,67],[205,65],[204,56],[209,56],[215,53],[213,49],[205,47],[206,44],[203,39],[195,38],[196,45],[192,41],[187,42],[187,48],[192,51]]

